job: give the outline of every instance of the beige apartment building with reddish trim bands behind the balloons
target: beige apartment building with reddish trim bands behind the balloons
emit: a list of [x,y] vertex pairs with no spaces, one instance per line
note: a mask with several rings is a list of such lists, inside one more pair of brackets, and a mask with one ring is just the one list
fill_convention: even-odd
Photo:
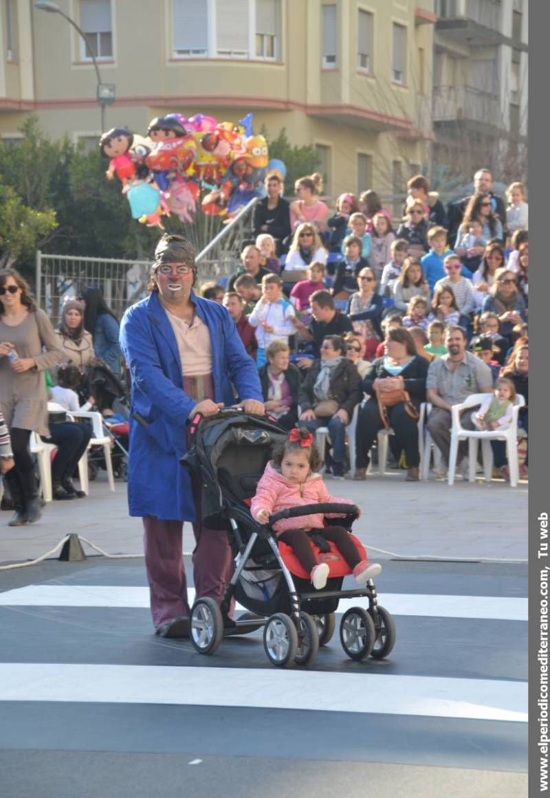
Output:
[[50,135],[91,144],[100,83],[115,97],[105,128],[252,111],[255,129],[315,145],[332,195],[402,191],[429,161],[433,0],[42,3],[85,41],[31,0],[0,3],[0,136],[35,111]]

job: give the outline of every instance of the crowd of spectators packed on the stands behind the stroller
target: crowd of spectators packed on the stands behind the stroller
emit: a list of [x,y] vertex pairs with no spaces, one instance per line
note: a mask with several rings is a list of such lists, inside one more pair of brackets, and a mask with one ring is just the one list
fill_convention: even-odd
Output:
[[[364,479],[378,431],[390,425],[390,465],[417,480],[417,414],[425,401],[427,429],[442,454],[436,476],[445,476],[451,406],[491,393],[506,369],[518,380],[517,342],[524,370],[516,393],[526,398],[524,184],[498,196],[481,168],[473,193],[446,208],[425,176],[406,188],[402,218],[394,219],[374,191],[346,192],[331,211],[319,174],[296,181],[291,203],[279,177],[268,176],[267,196],[255,207],[255,242],[243,249],[222,300],[260,369],[271,412],[285,426],[297,419],[311,430],[328,428],[326,468],[336,478],[350,468]],[[406,399],[382,407],[382,394],[394,391]],[[345,438],[355,411],[355,432],[347,431],[355,435],[352,464]],[[525,433],[527,412],[520,413]],[[466,427],[472,415],[465,414]],[[494,462],[507,478],[503,446],[493,444]],[[468,471],[462,449],[459,470]],[[526,464],[520,472],[526,476]]]

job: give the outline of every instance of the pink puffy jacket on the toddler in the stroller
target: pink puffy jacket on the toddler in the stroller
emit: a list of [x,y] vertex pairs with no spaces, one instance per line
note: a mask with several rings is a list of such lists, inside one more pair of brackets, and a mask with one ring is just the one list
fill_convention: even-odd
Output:
[[[302,484],[287,480],[277,471],[271,462],[266,466],[262,478],[256,488],[256,495],[251,501],[251,513],[255,519],[259,510],[269,510],[270,513],[279,512],[287,507],[300,507],[305,504],[353,504],[349,499],[340,499],[330,496],[322,476],[311,473]],[[299,518],[282,518],[274,525],[278,535],[286,529],[321,529],[325,516],[315,513],[313,516],[299,516]],[[338,516],[329,516],[338,517]]]

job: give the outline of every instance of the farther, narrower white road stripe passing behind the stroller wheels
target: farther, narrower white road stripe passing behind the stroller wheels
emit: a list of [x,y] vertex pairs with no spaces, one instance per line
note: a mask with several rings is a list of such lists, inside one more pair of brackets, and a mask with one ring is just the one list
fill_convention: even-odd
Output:
[[[189,601],[195,600],[195,590],[188,590]],[[493,621],[527,621],[527,599],[508,599],[497,596],[417,595],[381,593],[379,602],[394,615],[418,615],[426,618],[485,618]],[[0,606],[149,606],[147,587],[117,587],[105,585],[27,585],[0,593]],[[342,599],[338,612],[350,606],[368,606],[367,599]],[[244,607],[237,605],[237,610]]]

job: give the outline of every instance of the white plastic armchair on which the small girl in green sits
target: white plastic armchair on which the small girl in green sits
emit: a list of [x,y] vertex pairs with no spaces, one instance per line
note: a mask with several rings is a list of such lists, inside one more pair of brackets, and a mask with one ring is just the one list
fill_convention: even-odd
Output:
[[516,488],[519,479],[519,468],[517,464],[517,417],[520,408],[524,407],[525,400],[520,393],[516,396],[516,401],[512,409],[512,423],[506,429],[491,429],[481,431],[479,429],[464,429],[461,425],[461,410],[467,410],[477,405],[487,398],[486,393],[472,393],[466,397],[460,405],[453,405],[451,416],[453,425],[451,427],[451,447],[449,452],[449,477],[448,483],[454,483],[454,473],[457,468],[458,444],[461,440],[468,440],[469,456],[469,482],[475,482],[476,463],[477,463],[477,442],[481,440],[481,452],[483,454],[483,470],[485,480],[491,481],[493,476],[493,450],[491,440],[504,440],[506,442],[506,455],[508,456],[508,468],[510,469],[510,487]]

